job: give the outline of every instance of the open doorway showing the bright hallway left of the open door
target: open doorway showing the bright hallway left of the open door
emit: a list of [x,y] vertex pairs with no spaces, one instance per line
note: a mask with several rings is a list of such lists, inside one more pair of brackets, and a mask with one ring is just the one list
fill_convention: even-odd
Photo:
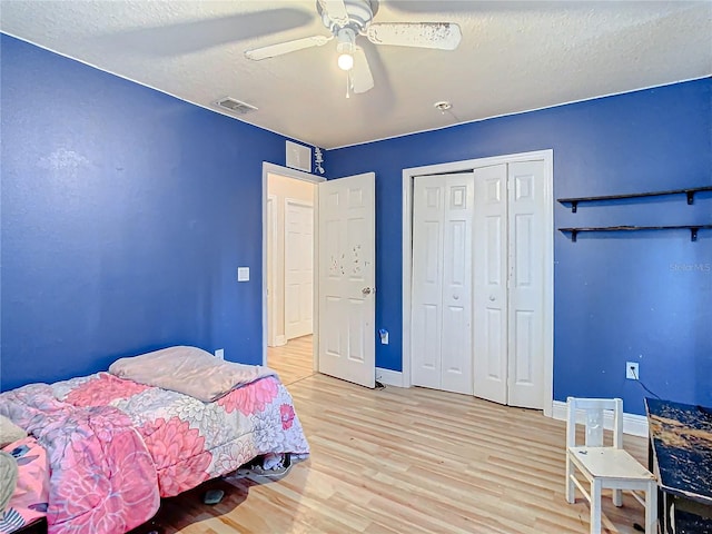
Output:
[[[267,164],[265,164],[267,165]],[[314,374],[314,250],[316,182],[319,177],[266,169],[265,364],[285,384]]]

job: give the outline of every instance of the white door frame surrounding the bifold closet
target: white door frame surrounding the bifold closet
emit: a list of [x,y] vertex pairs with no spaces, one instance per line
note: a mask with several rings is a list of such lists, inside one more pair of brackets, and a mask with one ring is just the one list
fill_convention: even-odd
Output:
[[411,387],[412,276],[413,276],[413,184],[416,176],[462,172],[478,167],[543,160],[544,197],[550,209],[544,217],[544,415],[552,417],[554,399],[554,151],[535,150],[488,158],[403,169],[403,386]]

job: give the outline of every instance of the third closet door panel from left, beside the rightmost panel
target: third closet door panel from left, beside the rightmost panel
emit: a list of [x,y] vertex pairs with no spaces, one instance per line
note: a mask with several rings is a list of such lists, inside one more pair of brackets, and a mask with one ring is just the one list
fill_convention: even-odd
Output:
[[475,169],[475,395],[507,404],[507,166]]

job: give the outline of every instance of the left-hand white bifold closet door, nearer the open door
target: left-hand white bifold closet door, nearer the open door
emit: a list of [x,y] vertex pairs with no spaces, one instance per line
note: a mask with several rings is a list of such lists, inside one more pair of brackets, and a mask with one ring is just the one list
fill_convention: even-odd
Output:
[[412,380],[468,395],[473,195],[472,172],[415,178]]

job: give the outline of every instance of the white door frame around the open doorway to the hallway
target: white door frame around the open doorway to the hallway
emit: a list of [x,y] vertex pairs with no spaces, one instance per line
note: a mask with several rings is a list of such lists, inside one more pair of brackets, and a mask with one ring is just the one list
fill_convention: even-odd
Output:
[[[263,161],[263,199],[261,199],[261,204],[263,204],[263,365],[266,366],[267,365],[267,198],[268,198],[268,176],[269,175],[279,175],[279,176],[284,176],[286,178],[294,178],[297,180],[304,180],[304,181],[309,181],[312,184],[319,184],[322,181],[326,181],[326,178],[322,177],[322,176],[316,176],[316,175],[310,175],[309,172],[305,172],[303,170],[297,170],[297,169],[290,169],[288,167],[283,167],[280,165],[276,165],[276,164],[270,164],[268,161]],[[315,281],[318,280],[318,265],[316,263],[317,259],[317,251],[319,249],[319,231],[318,228],[316,227],[316,222],[318,220],[318,196],[319,196],[319,189],[316,188],[315,190],[315,208],[314,208],[314,217],[315,217],[315,228],[314,228],[314,258],[315,258],[315,263],[314,263],[314,279]],[[318,313],[318,288],[315,287],[315,291],[314,291],[314,309],[313,309],[313,314],[316,316],[316,314]],[[312,350],[312,360],[313,360],[313,366],[314,369],[316,370],[316,358],[314,357],[315,354],[318,354],[318,333],[319,333],[319,322],[318,322],[318,317],[314,320],[314,335],[313,335],[313,339],[314,339],[314,347]]]

